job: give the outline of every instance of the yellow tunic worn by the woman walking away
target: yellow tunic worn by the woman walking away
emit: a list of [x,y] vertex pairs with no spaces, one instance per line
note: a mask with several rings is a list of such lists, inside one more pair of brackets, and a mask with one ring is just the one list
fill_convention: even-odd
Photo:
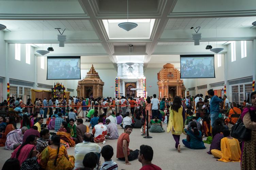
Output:
[[182,112],[182,106],[179,108],[178,112],[174,111],[170,107],[170,116],[167,126],[167,133],[169,133],[170,131],[174,135],[181,135],[182,133],[184,133],[185,123],[183,122]]

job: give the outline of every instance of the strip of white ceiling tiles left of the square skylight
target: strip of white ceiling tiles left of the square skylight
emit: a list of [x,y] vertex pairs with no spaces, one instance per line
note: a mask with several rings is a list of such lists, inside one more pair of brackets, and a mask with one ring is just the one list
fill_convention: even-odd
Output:
[[54,28],[66,31],[93,31],[89,20],[0,20],[0,23],[10,31],[42,31],[43,24],[44,31],[54,31]]

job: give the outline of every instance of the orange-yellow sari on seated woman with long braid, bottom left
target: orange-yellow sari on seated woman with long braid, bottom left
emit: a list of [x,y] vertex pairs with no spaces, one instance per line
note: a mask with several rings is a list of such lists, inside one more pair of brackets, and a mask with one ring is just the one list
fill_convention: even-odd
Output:
[[57,149],[48,146],[38,156],[38,162],[45,170],[71,170],[75,167],[75,158],[74,156],[68,156],[69,159],[67,159],[65,155],[67,155],[67,150],[64,146],[61,146],[55,166],[54,160],[57,156]]

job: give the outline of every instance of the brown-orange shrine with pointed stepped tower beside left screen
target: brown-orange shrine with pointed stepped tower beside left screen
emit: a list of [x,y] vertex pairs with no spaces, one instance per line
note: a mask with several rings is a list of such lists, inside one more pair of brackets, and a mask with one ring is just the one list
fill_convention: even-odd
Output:
[[93,65],[87,72],[83,80],[78,81],[77,96],[78,97],[102,97],[104,82],[95,71]]

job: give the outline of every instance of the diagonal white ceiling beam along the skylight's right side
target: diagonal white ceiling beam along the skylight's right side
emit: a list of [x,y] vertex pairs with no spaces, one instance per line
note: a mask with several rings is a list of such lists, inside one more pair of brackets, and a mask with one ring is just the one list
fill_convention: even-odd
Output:
[[144,58],[144,62],[147,63],[150,61],[151,54],[153,53],[155,47],[157,46],[157,40],[160,38],[162,32],[164,31],[164,28],[168,21],[168,14],[170,14],[176,4],[177,0],[166,0],[164,1],[163,10],[161,19],[156,19],[155,26],[153,28],[151,39],[152,41],[150,43],[147,43],[146,45],[146,53],[147,55]]

